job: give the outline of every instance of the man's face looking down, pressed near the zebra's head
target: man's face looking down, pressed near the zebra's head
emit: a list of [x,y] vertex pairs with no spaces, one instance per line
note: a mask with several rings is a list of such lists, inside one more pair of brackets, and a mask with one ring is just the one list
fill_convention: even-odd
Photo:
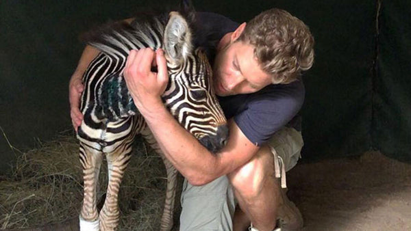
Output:
[[258,92],[271,84],[271,77],[258,64],[253,45],[229,42],[217,52],[213,66],[213,85],[218,96]]

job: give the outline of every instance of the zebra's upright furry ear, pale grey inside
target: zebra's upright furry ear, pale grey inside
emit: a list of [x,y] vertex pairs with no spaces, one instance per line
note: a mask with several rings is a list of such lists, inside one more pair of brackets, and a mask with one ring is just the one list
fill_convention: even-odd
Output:
[[177,12],[171,12],[164,29],[164,50],[171,62],[179,64],[192,51],[191,31],[186,19]]

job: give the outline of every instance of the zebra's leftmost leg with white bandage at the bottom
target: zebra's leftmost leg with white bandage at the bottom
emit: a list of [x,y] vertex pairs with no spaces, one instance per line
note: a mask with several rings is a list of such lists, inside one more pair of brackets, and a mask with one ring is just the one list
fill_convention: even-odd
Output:
[[80,143],[80,162],[83,167],[84,198],[80,213],[80,230],[98,231],[99,212],[97,211],[97,184],[103,154],[99,150]]

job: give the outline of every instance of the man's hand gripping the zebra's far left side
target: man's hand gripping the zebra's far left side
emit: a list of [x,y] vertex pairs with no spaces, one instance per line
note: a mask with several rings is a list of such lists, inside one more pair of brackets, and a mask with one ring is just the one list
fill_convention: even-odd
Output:
[[81,77],[71,77],[69,84],[69,101],[70,101],[70,117],[74,130],[77,132],[77,128],[82,124],[83,114],[80,111],[80,97],[84,90],[84,85]]

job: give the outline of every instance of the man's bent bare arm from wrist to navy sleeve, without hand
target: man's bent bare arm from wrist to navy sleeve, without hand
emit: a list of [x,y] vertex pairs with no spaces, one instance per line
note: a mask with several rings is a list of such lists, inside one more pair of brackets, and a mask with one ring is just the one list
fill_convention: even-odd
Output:
[[245,165],[259,150],[234,120],[229,121],[227,146],[213,154],[180,126],[165,108],[145,119],[166,158],[192,185],[205,185]]

